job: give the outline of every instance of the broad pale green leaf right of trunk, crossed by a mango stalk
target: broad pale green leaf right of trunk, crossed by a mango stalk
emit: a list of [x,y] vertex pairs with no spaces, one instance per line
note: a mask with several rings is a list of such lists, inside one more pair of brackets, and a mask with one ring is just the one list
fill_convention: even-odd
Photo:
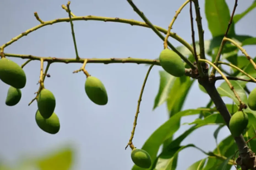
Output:
[[[230,83],[232,84],[232,86],[234,87],[236,93],[239,95],[239,97],[241,98],[241,100],[244,103],[247,103],[247,96],[246,93],[243,89],[243,87],[236,81],[234,80],[230,80]],[[226,82],[223,82],[218,88],[217,91],[219,92],[219,94],[221,96],[227,96],[229,98],[231,98],[237,105],[239,105],[239,101],[237,100],[237,98],[235,97],[235,94],[233,93],[232,90],[230,90],[230,87],[228,86],[228,84]]]

